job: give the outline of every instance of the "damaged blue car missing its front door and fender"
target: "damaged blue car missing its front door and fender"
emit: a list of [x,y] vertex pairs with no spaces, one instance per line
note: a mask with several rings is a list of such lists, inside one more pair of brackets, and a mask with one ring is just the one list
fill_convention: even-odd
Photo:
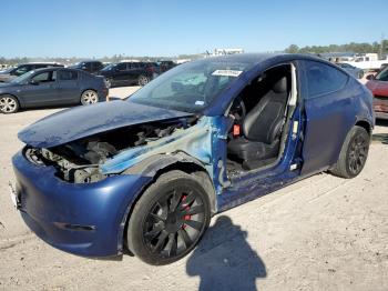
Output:
[[356,79],[315,57],[185,63],[126,100],[64,110],[22,130],[12,199],[58,249],[129,250],[171,263],[219,211],[317,172],[356,177],[371,102]]

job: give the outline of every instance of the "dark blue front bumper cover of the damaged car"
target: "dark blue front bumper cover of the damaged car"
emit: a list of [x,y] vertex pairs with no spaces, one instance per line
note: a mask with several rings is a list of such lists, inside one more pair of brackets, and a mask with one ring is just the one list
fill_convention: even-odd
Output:
[[19,210],[28,227],[49,244],[84,257],[121,254],[127,210],[150,178],[115,175],[73,184],[53,167],[13,159]]

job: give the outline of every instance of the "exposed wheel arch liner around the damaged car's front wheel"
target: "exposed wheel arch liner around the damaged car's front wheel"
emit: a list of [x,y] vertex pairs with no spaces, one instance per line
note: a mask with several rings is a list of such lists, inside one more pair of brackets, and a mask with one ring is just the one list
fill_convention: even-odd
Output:
[[214,189],[214,184],[205,167],[198,160],[183,152],[178,152],[175,154],[152,155],[145,159],[144,161],[140,162],[139,164],[125,170],[122,173],[141,174],[152,177],[152,179],[150,179],[150,181],[146,184],[144,184],[142,189],[137,191],[137,193],[135,193],[134,199],[129,205],[126,205],[126,211],[122,217],[119,230],[119,251],[124,251],[123,244],[126,244],[125,233],[127,231],[127,224],[131,219],[134,205],[141,199],[145,190],[151,184],[153,184],[159,179],[159,177],[173,170],[180,170],[188,174],[195,174],[195,177],[202,181],[202,184],[204,185],[206,193],[208,194],[208,199],[211,202],[211,214],[214,215],[216,213],[216,192]]

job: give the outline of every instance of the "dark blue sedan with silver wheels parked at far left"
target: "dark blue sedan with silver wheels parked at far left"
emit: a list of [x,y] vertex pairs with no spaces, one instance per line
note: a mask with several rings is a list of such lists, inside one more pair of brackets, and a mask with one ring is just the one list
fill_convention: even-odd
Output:
[[104,101],[106,94],[102,77],[74,69],[38,69],[0,84],[0,112],[14,113],[20,108],[45,106],[86,106]]

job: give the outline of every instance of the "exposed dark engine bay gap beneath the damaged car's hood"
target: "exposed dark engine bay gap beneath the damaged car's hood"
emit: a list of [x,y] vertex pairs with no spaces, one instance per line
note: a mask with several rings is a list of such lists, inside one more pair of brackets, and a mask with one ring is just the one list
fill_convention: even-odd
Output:
[[24,148],[25,158],[39,165],[52,165],[57,177],[73,183],[90,183],[104,179],[100,165],[118,153],[135,147],[146,147],[156,140],[195,124],[197,118],[175,119],[131,126],[99,133],[50,149]]

